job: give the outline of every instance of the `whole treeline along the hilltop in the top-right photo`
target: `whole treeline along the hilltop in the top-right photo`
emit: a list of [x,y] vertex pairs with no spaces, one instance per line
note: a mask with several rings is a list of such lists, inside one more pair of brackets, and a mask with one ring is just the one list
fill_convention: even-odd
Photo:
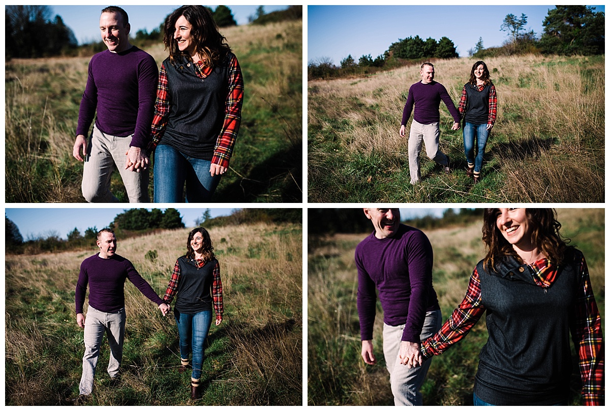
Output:
[[[526,30],[527,16],[506,15],[500,30],[507,32],[508,39],[500,47],[483,46],[483,37],[468,55],[475,58],[521,54],[597,55],[605,52],[605,13],[595,12],[586,5],[558,5],[549,10],[538,35]],[[364,76],[376,71],[393,69],[415,62],[423,63],[433,58],[458,57],[456,47],[447,37],[438,42],[433,38],[423,40],[419,36],[408,37],[390,44],[387,51],[376,58],[362,55],[356,61],[351,54],[334,65],[329,58],[310,61],[307,65],[308,79],[331,79],[345,76]]]

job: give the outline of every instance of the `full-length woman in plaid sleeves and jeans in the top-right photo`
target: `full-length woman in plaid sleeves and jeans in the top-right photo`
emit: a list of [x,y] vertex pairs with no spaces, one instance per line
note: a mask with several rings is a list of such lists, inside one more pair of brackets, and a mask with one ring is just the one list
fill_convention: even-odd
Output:
[[[498,99],[489,79],[489,70],[483,61],[477,61],[470,71],[470,81],[464,85],[458,110],[464,118],[464,153],[468,166],[466,175],[475,184],[481,180],[481,167],[487,138],[496,119]],[[476,158],[475,158],[476,139]]]

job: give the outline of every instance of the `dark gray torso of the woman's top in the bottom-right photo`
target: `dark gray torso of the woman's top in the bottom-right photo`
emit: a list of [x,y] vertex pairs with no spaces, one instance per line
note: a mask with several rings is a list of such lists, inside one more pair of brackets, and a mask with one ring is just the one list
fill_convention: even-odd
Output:
[[497,272],[476,266],[487,308],[489,339],[475,378],[479,398],[498,406],[553,405],[567,401],[573,321],[582,254],[568,248],[554,283],[543,289],[532,269],[509,257]]

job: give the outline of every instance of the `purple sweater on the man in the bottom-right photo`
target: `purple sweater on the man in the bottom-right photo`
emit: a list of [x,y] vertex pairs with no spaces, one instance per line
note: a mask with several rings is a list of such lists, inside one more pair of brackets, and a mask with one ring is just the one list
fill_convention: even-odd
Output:
[[373,339],[376,293],[384,323],[405,325],[403,341],[420,342],[426,312],[439,309],[432,287],[432,246],[426,234],[401,224],[392,237],[375,232],[356,247],[358,315],[362,340]]

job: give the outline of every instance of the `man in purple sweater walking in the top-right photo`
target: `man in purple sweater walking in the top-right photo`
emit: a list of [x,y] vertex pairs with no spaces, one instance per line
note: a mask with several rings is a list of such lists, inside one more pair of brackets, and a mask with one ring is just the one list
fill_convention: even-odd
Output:
[[409,88],[409,96],[404,105],[403,121],[400,126],[400,135],[404,137],[407,121],[409,121],[413,105],[415,105],[411,132],[409,133],[411,184],[417,184],[422,178],[419,164],[422,141],[426,144],[428,157],[443,166],[445,173],[449,174],[451,172],[449,157],[439,150],[440,100],[445,102],[453,117],[454,123],[451,130],[458,130],[460,122],[459,112],[451,101],[447,90],[442,84],[434,81],[434,66],[432,66],[432,63],[423,63],[420,76],[422,76],[422,81]]

